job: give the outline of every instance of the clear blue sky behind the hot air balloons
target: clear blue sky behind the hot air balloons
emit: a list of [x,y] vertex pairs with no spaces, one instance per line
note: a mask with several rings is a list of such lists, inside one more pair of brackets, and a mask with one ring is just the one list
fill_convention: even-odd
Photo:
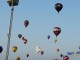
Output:
[[[3,51],[0,60],[5,60],[7,33],[10,23],[11,7],[6,2],[0,0],[0,46]],[[56,3],[62,3],[63,9],[55,10]],[[24,21],[28,20],[29,25],[24,27]],[[9,59],[14,60],[19,56],[21,60],[52,60],[60,58],[60,54],[79,51],[80,45],[80,0],[19,0],[19,5],[14,7],[12,31],[10,39]],[[60,27],[61,33],[56,37],[53,33],[54,27]],[[28,43],[24,44],[18,38],[22,34]],[[50,35],[50,39],[47,36]],[[12,46],[17,46],[18,50],[12,52]],[[40,46],[44,55],[36,54],[35,47]],[[57,52],[56,49],[60,51]],[[26,54],[29,53],[29,58]],[[80,56],[72,55],[70,60],[80,60]]]

